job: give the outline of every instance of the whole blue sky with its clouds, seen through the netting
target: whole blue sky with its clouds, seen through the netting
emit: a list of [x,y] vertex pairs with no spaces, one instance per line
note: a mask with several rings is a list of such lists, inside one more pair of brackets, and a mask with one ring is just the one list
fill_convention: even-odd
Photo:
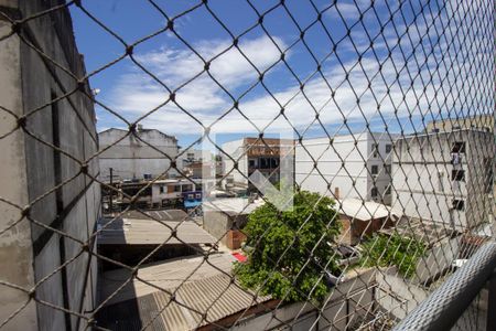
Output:
[[[484,46],[485,36],[464,40],[472,43],[470,50],[478,47],[478,51],[462,54],[460,45],[451,38],[450,29],[453,28],[450,24],[466,29],[463,13],[473,9],[451,2],[443,4],[442,1],[440,4],[436,1],[408,1],[398,7],[398,1],[386,3],[381,0],[375,1],[374,8],[367,0],[343,0],[327,9],[330,2],[313,1],[315,10],[311,1],[285,1],[285,9],[279,6],[270,10],[279,2],[251,1],[254,9],[246,0],[212,0],[208,7],[201,1],[85,0],[85,10],[127,44],[157,33],[133,49],[134,61],[154,77],[126,57],[91,75],[91,87],[100,89],[97,96],[100,103],[129,121],[152,111],[140,122],[147,128],[175,135],[182,146],[190,145],[203,134],[196,120],[209,125],[220,116],[225,117],[212,130],[222,143],[257,135],[259,130],[269,136],[288,131],[291,129],[289,122],[305,137],[324,136],[325,131],[331,136],[348,134],[344,118],[354,132],[364,131],[366,121],[375,131],[384,131],[387,126],[390,132],[401,129],[411,132],[421,130],[421,119],[430,120],[431,114],[438,117],[440,113],[443,116],[446,113],[474,114],[473,105],[464,105],[456,94],[442,88],[450,85],[454,90],[466,88],[457,85],[460,79],[456,79],[461,74],[465,79],[471,74],[464,62],[473,58],[473,54],[482,54],[479,61],[484,61],[481,45]],[[162,31],[168,19],[153,3],[169,19],[187,9],[193,10],[173,20],[174,34]],[[477,3],[487,6],[482,1]],[[88,73],[125,54],[122,42],[80,9],[72,6],[71,10],[76,42],[85,55]],[[267,12],[262,23],[266,31],[257,24],[256,10]],[[242,34],[238,42],[242,54],[233,47],[231,35],[209,11],[233,35]],[[303,43],[296,24],[306,29],[319,11],[322,23],[305,31]],[[360,13],[363,23],[356,23]],[[490,18],[487,21],[490,22]],[[349,35],[347,28],[351,28]],[[222,87],[205,73],[202,60],[177,35],[204,60],[211,62],[214,58],[209,73]],[[373,47],[370,39],[374,39]],[[337,46],[333,52],[335,43]],[[486,44],[488,46],[490,42]],[[287,64],[280,61],[281,51],[285,51]],[[435,65],[441,61],[443,65],[435,72]],[[379,63],[382,64],[380,67]],[[319,64],[322,75],[316,73]],[[267,71],[265,86],[258,82],[259,75],[252,65],[260,72]],[[476,78],[472,77],[474,82]],[[184,85],[186,82],[190,83]],[[301,82],[305,83],[303,93]],[[175,102],[181,107],[168,102],[169,90],[176,90]],[[468,93],[474,94],[470,99],[476,99],[476,94],[482,92]],[[240,111],[231,109],[231,98],[238,100]],[[287,118],[278,117],[281,105]],[[483,106],[490,109],[492,102],[483,103]],[[484,107],[477,105],[475,111],[485,113]],[[315,121],[316,113],[322,125]],[[126,127],[100,106],[97,106],[97,117],[99,130]]]

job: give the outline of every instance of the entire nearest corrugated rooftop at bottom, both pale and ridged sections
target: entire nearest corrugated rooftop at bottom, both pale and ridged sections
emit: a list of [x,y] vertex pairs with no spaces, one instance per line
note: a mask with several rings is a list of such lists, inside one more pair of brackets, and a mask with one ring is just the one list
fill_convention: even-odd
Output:
[[[192,330],[270,300],[269,296],[257,297],[231,282],[234,260],[228,254],[216,254],[207,261],[202,256],[140,268],[138,277],[153,287],[132,278],[107,302],[98,322],[112,330],[140,330],[149,322],[153,330]],[[111,295],[130,276],[129,270],[106,273],[101,298]]]

